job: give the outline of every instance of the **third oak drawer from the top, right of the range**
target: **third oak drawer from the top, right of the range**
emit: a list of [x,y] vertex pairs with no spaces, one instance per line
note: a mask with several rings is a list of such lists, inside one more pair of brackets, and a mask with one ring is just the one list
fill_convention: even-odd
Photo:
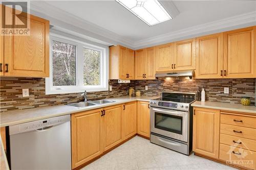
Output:
[[220,143],[233,145],[239,148],[256,152],[256,140],[246,139],[237,136],[220,134]]

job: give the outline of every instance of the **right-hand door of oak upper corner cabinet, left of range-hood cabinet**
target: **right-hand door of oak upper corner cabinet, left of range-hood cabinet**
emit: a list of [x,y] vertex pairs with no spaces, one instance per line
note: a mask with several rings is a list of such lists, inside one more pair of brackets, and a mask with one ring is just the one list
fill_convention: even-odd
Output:
[[145,49],[145,78],[146,80],[155,80],[156,75],[156,47]]

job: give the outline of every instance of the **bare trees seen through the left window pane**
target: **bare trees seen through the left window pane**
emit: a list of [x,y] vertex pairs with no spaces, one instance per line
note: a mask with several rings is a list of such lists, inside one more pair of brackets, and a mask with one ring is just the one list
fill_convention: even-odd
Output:
[[53,86],[76,85],[76,46],[53,41]]

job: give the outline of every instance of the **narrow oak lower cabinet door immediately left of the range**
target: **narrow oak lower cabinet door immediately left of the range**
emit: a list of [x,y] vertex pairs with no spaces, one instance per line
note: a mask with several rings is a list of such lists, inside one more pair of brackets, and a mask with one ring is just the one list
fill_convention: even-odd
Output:
[[150,103],[138,102],[137,106],[137,133],[145,137],[150,137]]

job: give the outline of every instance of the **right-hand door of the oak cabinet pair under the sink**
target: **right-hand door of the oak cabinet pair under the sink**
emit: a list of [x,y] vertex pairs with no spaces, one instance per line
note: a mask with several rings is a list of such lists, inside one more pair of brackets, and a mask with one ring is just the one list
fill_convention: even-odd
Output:
[[103,108],[102,146],[103,152],[122,141],[122,105]]

